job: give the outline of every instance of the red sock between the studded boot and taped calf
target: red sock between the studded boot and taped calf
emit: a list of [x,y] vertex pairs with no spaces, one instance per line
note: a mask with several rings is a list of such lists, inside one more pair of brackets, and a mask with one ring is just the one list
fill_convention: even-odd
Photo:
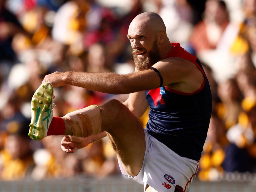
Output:
[[47,135],[63,135],[66,131],[65,122],[60,117],[52,117]]

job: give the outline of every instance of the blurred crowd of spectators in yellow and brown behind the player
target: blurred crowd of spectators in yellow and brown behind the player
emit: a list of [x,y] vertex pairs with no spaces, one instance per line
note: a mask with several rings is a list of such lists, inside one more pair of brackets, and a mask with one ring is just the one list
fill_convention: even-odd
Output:
[[[169,40],[201,60],[211,85],[213,111],[198,178],[256,172],[256,0],[0,0],[1,180],[120,174],[107,138],[73,154],[61,150],[62,136],[31,140],[31,98],[55,71],[133,72],[126,34],[145,11],[158,13]],[[58,117],[128,97],[68,85],[54,94]]]

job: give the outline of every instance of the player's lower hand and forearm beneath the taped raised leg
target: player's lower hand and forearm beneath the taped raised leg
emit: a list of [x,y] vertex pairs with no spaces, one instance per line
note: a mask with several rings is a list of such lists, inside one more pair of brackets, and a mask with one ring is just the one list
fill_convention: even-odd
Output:
[[98,141],[106,136],[106,132],[98,133],[97,135],[91,135],[89,137],[75,137],[65,135],[61,140],[61,149],[65,153],[74,153],[76,150],[86,147],[90,143]]

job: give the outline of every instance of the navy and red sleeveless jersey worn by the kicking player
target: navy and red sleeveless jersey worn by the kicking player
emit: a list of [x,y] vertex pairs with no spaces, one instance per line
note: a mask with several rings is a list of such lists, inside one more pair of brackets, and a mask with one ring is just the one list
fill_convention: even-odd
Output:
[[179,57],[195,63],[205,80],[193,93],[184,93],[165,86],[145,91],[150,107],[146,130],[178,155],[198,161],[212,111],[210,84],[200,61],[180,47],[179,43],[172,45],[174,48],[166,58]]

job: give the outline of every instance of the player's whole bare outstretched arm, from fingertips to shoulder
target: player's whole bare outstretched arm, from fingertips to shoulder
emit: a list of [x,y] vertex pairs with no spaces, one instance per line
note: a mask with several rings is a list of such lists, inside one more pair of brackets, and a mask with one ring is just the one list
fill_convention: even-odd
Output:
[[[201,73],[191,62],[176,58],[167,58],[153,65],[162,74],[163,86],[173,83],[190,83],[189,87],[198,87],[198,76]],[[202,76],[202,74],[201,74]],[[202,78],[202,77],[201,77]],[[201,79],[199,79],[201,81]],[[159,87],[160,79],[154,70],[136,71],[120,75],[116,73],[86,73],[86,72],[55,72],[46,75],[43,82],[49,82],[54,87],[70,84],[86,89],[100,91],[110,94],[126,94],[143,90],[156,89]],[[191,83],[192,82],[192,83]],[[202,83],[202,82],[201,82]],[[199,85],[200,87],[200,85]],[[199,88],[198,87],[198,88]],[[184,90],[181,90],[184,91]],[[186,92],[186,91],[184,91]]]

